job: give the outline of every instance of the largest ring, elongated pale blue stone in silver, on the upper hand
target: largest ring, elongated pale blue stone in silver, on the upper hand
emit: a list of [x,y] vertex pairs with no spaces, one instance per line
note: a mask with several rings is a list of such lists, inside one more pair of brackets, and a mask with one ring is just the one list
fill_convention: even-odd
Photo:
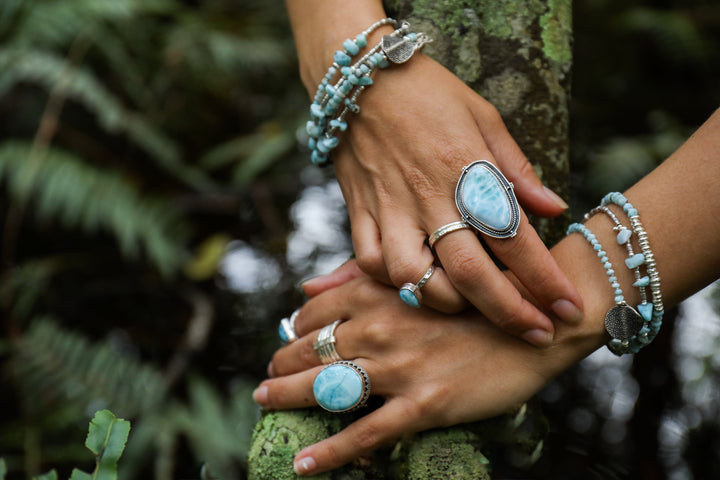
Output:
[[520,207],[513,184],[487,160],[463,167],[455,204],[463,220],[485,235],[510,238],[517,233]]

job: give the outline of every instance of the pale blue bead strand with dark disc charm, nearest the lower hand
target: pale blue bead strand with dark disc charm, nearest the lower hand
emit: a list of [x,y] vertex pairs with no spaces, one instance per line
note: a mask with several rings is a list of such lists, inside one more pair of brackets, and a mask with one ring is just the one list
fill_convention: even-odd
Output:
[[633,337],[642,329],[643,318],[637,310],[625,302],[625,296],[620,283],[618,283],[618,278],[615,276],[613,265],[595,235],[582,223],[573,223],[568,227],[568,235],[575,232],[582,234],[600,257],[605,274],[615,293],[615,306],[605,314],[605,330],[612,337],[607,344],[608,349],[616,355],[622,355],[629,349]]

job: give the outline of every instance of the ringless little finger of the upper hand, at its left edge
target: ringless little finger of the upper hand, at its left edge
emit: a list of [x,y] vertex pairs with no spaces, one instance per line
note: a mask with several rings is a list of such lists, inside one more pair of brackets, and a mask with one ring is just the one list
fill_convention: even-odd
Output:
[[358,211],[351,221],[353,250],[358,267],[379,282],[390,284],[385,268],[380,229],[367,210]]

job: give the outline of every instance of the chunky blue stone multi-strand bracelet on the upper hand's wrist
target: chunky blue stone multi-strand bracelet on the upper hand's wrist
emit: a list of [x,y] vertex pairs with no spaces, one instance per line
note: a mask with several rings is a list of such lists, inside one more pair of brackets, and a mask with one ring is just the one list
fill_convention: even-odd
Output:
[[[380,43],[351,65],[352,57],[367,45],[367,35],[382,25],[392,24],[396,30],[384,35]],[[310,105],[311,120],[307,122],[306,131],[309,135],[308,147],[310,159],[316,165],[329,163],[329,152],[338,146],[337,130],[347,130],[345,116],[348,112],[359,113],[357,99],[363,90],[373,84],[372,75],[375,68],[387,68],[391,63],[404,63],[431,40],[422,33],[408,32],[410,24],[403,22],[397,27],[397,21],[385,18],[375,22],[360,33],[355,40],[343,42],[344,50],[338,50],[333,56],[333,64],[328,69]],[[331,82],[337,75],[341,76],[333,85]],[[340,106],[343,110],[335,116]]]

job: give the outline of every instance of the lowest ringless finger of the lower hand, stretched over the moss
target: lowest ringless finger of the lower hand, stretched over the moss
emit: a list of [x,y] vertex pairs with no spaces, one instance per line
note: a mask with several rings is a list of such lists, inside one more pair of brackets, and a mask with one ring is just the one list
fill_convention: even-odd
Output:
[[419,431],[418,410],[409,402],[395,398],[350,424],[341,432],[301,450],[293,462],[298,475],[314,475],[338,468],[369,454],[403,434]]

